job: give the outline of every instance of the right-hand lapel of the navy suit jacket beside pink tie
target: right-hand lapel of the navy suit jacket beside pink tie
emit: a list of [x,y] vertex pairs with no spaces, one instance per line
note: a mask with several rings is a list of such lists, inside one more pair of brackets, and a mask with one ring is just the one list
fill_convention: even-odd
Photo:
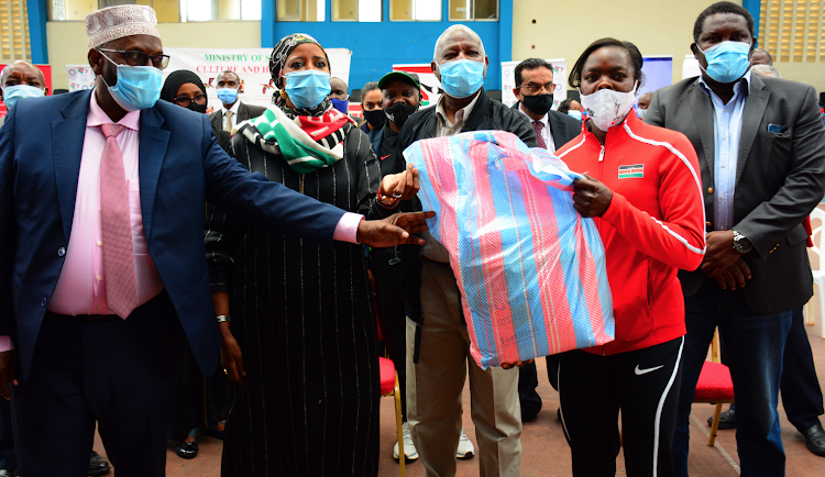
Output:
[[138,146],[138,173],[141,178],[141,211],[143,230],[146,239],[152,232],[152,217],[157,193],[157,180],[161,176],[169,144],[169,132],[162,130],[164,119],[157,108],[141,111],[141,143]]

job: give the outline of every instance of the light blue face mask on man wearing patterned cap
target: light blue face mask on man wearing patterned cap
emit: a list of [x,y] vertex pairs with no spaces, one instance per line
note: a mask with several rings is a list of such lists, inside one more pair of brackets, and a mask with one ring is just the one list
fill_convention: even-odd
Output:
[[[103,55],[106,56],[106,55]],[[111,60],[108,56],[106,59]],[[163,87],[163,75],[154,66],[129,66],[118,65],[118,82],[109,86],[103,78],[103,82],[109,87],[112,99],[125,111],[139,111],[150,109],[161,99],[161,88]]]

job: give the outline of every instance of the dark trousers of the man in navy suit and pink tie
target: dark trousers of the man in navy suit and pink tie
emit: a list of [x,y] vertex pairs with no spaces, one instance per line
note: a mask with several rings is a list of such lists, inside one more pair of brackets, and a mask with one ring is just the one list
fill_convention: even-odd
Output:
[[165,291],[127,320],[47,312],[29,379],[12,389],[20,474],[87,476],[97,422],[118,477],[165,475],[184,343]]

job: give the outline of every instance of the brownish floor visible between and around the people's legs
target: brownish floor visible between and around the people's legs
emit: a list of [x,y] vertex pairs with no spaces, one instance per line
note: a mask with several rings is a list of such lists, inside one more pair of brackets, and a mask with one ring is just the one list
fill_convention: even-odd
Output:
[[[818,313],[817,313],[818,314]],[[821,339],[821,324],[817,319],[816,326],[806,326],[811,345],[814,351],[816,368],[820,381],[825,382],[825,340]],[[543,359],[538,362],[539,376],[546,376]],[[571,475],[570,451],[561,431],[561,423],[556,419],[556,410],[559,407],[559,397],[550,385],[544,380],[539,385],[539,393],[544,404],[536,421],[525,425],[521,444],[524,447],[521,475],[554,476],[562,477]],[[464,389],[464,402],[470,402],[469,390]],[[392,458],[393,444],[395,444],[395,418],[392,398],[382,399],[381,403],[381,466],[380,476],[397,476],[398,464]],[[725,477],[736,476],[739,458],[736,454],[735,431],[719,431],[716,447],[706,445],[706,432],[708,426],[705,420],[713,413],[710,404],[695,404],[693,408],[693,422],[691,434],[690,469],[693,477]],[[823,477],[825,476],[825,458],[811,454],[805,448],[805,442],[796,430],[785,419],[784,412],[780,412],[782,420],[782,440],[788,455],[788,477]],[[470,419],[469,407],[464,411],[464,429],[470,439],[475,442],[473,423]],[[102,453],[102,445],[98,440],[96,450]],[[204,437],[200,440],[200,455],[193,461],[184,461],[177,457],[174,450],[169,448],[167,459],[167,476],[169,477],[218,477],[220,476],[221,442]],[[617,475],[624,476],[622,456],[618,458]],[[418,477],[424,475],[424,466],[420,462],[414,462],[407,466],[407,475]],[[459,476],[477,476],[479,461],[473,458],[458,463]]]

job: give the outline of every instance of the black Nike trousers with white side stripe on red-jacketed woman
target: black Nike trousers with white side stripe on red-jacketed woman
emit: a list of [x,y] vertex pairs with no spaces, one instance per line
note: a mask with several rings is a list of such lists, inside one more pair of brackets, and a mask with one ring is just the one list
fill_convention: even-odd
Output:
[[573,475],[616,475],[622,410],[628,477],[673,475],[671,447],[681,381],[682,337],[645,350],[598,356],[561,354],[561,420]]

